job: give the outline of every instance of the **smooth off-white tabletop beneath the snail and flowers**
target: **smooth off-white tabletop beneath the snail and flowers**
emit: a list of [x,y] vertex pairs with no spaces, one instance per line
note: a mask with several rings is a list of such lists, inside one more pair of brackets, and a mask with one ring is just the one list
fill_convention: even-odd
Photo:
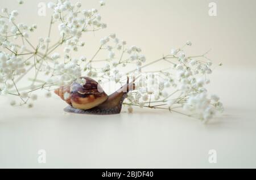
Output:
[[[213,76],[225,112],[209,125],[166,111],[118,115],[63,112],[58,97],[33,110],[5,106],[1,97],[1,168],[256,168],[255,69]],[[47,163],[38,164],[45,149]],[[217,164],[208,151],[216,149]]]

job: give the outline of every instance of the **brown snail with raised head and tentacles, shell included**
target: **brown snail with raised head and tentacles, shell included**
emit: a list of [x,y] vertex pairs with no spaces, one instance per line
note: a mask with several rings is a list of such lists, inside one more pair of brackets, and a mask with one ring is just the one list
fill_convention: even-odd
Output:
[[107,95],[100,84],[88,77],[81,77],[83,85],[73,82],[71,85],[55,89],[56,95],[67,102],[69,106],[65,112],[79,114],[118,114],[121,112],[123,100],[127,93],[135,89],[134,80],[119,88],[111,95]]

